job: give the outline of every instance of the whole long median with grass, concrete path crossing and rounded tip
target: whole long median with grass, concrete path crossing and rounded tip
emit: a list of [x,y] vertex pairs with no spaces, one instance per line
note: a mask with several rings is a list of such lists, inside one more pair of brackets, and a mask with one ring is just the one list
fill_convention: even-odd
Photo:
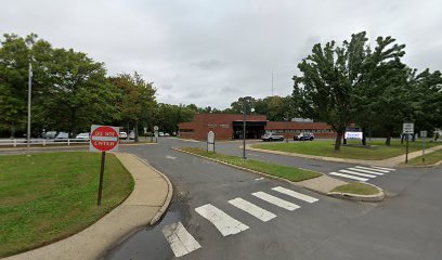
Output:
[[380,202],[385,197],[384,191],[375,185],[362,182],[347,183],[329,176],[306,169],[253,159],[244,160],[238,156],[209,153],[206,150],[197,147],[182,147],[174,150],[234,168],[286,180],[298,186],[302,186],[328,196],[360,202]]

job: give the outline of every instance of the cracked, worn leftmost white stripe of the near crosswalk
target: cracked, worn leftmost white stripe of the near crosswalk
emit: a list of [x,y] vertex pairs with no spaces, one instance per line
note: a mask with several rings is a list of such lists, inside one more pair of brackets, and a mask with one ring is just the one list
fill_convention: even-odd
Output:
[[202,247],[181,222],[166,225],[162,227],[162,234],[176,257],[182,257]]

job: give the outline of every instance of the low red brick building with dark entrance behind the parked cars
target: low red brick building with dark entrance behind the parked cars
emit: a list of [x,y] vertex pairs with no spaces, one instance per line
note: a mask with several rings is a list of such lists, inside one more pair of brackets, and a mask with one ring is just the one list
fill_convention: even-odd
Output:
[[[207,140],[207,133],[213,131],[217,140],[243,138],[243,115],[198,114],[193,121],[178,125],[179,136],[184,139]],[[312,132],[315,138],[335,138],[334,132],[324,122],[268,121],[266,116],[246,116],[246,138],[259,139],[265,132],[276,132],[292,139],[301,132]]]

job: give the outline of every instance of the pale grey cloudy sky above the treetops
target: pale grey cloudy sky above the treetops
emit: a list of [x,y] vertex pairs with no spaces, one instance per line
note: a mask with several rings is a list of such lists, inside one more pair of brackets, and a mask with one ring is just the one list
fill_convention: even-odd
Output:
[[405,62],[442,69],[438,0],[2,0],[0,32],[36,32],[54,47],[139,72],[158,100],[225,108],[238,96],[291,93],[316,42],[391,35]]

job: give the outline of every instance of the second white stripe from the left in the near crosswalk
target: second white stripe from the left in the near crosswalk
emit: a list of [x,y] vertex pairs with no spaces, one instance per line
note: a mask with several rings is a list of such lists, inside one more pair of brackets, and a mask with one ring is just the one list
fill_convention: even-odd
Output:
[[195,211],[210,221],[223,236],[234,235],[248,229],[247,225],[224,213],[224,211],[211,204],[195,208]]

